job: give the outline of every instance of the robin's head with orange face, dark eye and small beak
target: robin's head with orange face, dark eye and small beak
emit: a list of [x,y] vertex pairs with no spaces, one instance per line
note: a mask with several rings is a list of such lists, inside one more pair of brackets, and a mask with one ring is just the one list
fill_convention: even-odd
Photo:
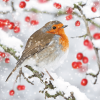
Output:
[[67,25],[63,25],[60,21],[50,21],[42,27],[42,31],[46,33],[61,35],[63,34],[64,28]]

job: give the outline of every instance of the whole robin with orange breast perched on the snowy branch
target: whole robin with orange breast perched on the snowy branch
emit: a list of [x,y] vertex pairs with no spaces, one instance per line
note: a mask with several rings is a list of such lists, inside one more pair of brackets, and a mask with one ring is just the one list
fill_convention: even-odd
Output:
[[60,21],[50,21],[33,33],[28,39],[16,67],[9,74],[6,81],[18,67],[25,65],[45,68],[50,79],[53,80],[47,69],[55,69],[54,67],[62,58],[67,56],[69,48],[69,40],[64,32],[65,27],[67,25],[63,25]]

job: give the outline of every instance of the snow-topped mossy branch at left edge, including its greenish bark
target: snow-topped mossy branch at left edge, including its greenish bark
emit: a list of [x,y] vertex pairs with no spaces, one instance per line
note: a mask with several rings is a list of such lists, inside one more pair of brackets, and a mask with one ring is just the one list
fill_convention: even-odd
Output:
[[0,46],[5,52],[9,52],[17,60],[22,52],[23,43],[20,39],[9,36],[6,32],[0,29]]

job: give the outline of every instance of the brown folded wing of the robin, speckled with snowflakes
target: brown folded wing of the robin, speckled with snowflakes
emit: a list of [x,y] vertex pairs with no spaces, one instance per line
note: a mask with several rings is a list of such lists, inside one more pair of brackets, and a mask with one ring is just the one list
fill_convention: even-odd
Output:
[[17,64],[18,65],[22,64],[26,58],[31,57],[34,54],[45,49],[48,46],[48,44],[51,42],[53,37],[54,34],[43,33],[41,30],[36,31],[28,39],[25,49],[22,53],[22,56],[17,62]]

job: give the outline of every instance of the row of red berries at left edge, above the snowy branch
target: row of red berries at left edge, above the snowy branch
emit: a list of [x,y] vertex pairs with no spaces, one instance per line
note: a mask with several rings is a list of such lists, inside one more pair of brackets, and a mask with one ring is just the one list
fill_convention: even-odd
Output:
[[14,30],[14,33],[19,33],[20,32],[20,27],[15,26],[13,22],[10,22],[9,19],[0,19],[0,28],[8,28],[10,30]]

